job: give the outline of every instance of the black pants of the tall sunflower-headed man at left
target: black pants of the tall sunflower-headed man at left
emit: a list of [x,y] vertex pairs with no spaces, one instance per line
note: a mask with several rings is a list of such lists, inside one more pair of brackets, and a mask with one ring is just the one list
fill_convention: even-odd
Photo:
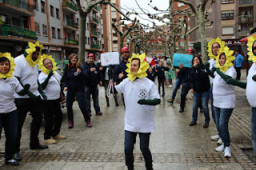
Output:
[[38,132],[42,122],[42,101],[34,102],[30,98],[16,98],[15,104],[18,108],[18,132],[15,152],[19,152],[22,138],[22,126],[26,120],[26,113],[30,112],[32,122],[30,126],[30,147],[39,144]]

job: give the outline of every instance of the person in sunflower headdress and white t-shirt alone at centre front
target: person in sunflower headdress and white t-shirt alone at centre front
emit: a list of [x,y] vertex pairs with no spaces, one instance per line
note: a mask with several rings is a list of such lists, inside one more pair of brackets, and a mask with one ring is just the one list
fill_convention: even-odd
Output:
[[[146,169],[153,169],[153,160],[149,148],[150,133],[154,132],[154,105],[160,103],[158,89],[150,79],[140,76],[142,59],[131,59],[128,78],[115,86],[118,93],[123,93],[126,103],[125,116],[125,155],[128,170],[134,169],[134,144],[137,134],[140,137],[140,148],[145,159]],[[146,64],[147,65],[147,64]],[[139,72],[138,72],[138,69]],[[147,74],[146,74],[147,75]],[[131,78],[130,77],[134,77]],[[139,78],[138,78],[139,77]]]

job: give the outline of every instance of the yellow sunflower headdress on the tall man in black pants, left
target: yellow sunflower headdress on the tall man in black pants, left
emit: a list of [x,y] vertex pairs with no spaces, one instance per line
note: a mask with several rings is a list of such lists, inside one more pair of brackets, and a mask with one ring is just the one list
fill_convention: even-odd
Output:
[[[39,61],[41,60],[42,45],[40,45],[39,42],[35,42],[35,43],[29,42],[28,44],[29,45],[26,46],[24,56],[26,57],[26,61],[30,64],[30,66],[33,67],[34,65],[38,65]],[[36,51],[37,47],[40,48],[40,52],[38,54],[38,59],[36,61],[33,61],[32,53],[34,53]]]

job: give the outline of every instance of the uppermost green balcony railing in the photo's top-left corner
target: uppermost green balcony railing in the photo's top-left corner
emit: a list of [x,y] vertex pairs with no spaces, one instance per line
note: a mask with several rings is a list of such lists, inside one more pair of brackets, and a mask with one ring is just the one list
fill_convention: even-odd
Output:
[[10,6],[16,6],[22,10],[27,10],[29,12],[34,12],[35,6],[26,2],[25,0],[1,0],[0,3],[6,3]]

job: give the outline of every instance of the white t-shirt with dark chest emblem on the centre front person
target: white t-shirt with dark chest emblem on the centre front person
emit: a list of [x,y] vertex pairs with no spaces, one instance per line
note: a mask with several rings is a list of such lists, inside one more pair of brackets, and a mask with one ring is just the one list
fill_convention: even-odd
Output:
[[135,81],[126,78],[115,89],[118,93],[123,93],[126,103],[125,130],[154,132],[154,106],[138,104],[139,99],[160,99],[154,82],[146,77]]

